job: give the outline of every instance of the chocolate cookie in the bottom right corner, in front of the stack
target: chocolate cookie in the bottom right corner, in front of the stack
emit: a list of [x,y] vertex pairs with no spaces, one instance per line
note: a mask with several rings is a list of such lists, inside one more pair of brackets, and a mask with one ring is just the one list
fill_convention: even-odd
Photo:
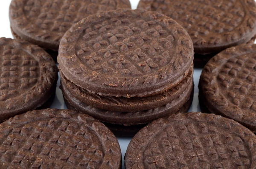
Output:
[[256,135],[228,118],[184,113],[160,118],[128,145],[125,169],[253,169]]

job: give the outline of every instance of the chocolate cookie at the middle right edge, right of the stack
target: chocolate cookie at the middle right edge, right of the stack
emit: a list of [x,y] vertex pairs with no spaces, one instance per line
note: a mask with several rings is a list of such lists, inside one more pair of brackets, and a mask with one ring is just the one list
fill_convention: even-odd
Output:
[[256,132],[256,45],[228,48],[204,67],[199,90],[211,113],[220,114]]

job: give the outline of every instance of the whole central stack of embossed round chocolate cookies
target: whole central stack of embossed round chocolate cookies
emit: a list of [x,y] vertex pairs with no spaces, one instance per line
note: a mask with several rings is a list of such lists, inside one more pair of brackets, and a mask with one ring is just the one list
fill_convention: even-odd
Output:
[[120,9],[91,15],[61,39],[67,106],[112,124],[145,124],[186,112],[193,93],[193,44],[169,17]]

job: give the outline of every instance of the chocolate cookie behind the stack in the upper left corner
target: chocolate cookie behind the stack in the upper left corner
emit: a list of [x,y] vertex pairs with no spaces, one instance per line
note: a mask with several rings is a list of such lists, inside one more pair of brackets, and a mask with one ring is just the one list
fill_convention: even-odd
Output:
[[14,37],[58,51],[61,37],[73,24],[117,8],[131,8],[129,0],[12,0],[9,18]]

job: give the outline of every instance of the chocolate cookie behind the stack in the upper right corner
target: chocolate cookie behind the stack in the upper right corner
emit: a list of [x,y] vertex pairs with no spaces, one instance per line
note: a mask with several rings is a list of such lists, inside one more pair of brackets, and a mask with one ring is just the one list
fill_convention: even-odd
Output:
[[256,34],[254,0],[140,0],[138,8],[160,12],[180,23],[201,57],[246,43]]

